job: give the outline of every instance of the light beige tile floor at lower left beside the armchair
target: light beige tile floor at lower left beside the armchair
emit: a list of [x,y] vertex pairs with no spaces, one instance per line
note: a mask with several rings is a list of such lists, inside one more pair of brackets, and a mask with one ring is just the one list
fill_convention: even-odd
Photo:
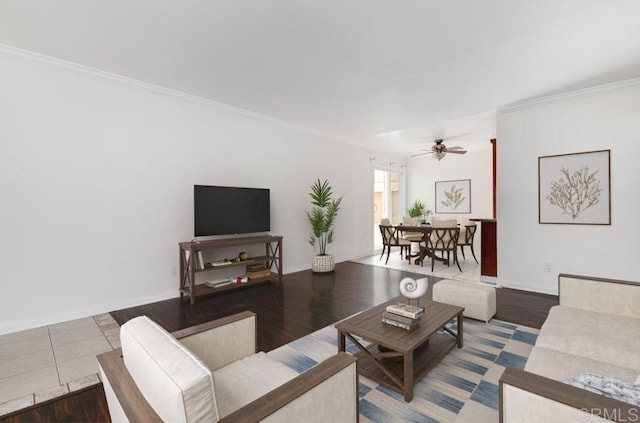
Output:
[[99,383],[96,355],[119,346],[108,313],[0,336],[0,416]]

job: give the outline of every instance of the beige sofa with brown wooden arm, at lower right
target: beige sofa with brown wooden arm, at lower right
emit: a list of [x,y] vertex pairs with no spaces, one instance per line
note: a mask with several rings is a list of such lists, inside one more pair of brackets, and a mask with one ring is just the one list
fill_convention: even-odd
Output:
[[500,379],[500,422],[640,421],[639,407],[564,383],[586,372],[637,380],[640,284],[561,274],[558,292],[524,370]]

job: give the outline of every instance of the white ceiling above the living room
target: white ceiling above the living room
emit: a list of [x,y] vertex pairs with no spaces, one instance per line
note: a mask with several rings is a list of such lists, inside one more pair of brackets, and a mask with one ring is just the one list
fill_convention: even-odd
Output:
[[409,156],[639,77],[640,1],[1,0],[0,43]]

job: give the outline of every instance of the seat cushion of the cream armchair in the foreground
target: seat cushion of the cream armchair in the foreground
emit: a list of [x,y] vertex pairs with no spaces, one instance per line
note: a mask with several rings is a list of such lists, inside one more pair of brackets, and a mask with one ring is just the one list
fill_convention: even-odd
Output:
[[298,376],[298,372],[264,352],[213,372],[220,418]]

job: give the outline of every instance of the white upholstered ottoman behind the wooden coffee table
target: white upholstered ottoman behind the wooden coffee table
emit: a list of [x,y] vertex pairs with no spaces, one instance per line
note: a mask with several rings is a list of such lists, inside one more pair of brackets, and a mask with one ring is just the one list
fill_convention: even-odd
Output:
[[485,322],[496,315],[496,289],[481,283],[452,279],[436,282],[433,301],[464,307],[464,316]]

